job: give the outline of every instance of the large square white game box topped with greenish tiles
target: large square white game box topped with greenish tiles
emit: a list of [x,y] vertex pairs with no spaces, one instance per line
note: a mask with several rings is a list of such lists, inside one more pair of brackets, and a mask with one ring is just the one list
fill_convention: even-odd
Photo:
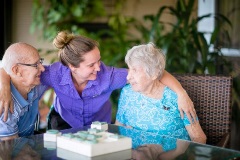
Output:
[[87,157],[94,157],[131,149],[132,139],[91,128],[88,131],[57,136],[57,148],[63,148]]

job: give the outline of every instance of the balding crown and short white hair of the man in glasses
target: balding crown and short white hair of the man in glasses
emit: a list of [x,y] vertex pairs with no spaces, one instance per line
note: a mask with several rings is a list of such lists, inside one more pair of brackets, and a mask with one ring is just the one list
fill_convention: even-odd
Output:
[[27,43],[13,43],[4,53],[2,67],[8,74],[11,74],[14,65],[26,62],[31,57],[30,54],[35,53],[38,53],[37,49]]

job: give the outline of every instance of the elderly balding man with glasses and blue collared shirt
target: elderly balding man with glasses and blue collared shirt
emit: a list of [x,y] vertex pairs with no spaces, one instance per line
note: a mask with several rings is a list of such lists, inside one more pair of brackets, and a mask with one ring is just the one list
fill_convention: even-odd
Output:
[[6,122],[3,114],[0,117],[1,140],[34,133],[38,102],[48,89],[40,84],[40,75],[45,70],[42,63],[37,49],[26,43],[14,43],[5,51],[2,67],[11,78],[14,112],[8,114]]

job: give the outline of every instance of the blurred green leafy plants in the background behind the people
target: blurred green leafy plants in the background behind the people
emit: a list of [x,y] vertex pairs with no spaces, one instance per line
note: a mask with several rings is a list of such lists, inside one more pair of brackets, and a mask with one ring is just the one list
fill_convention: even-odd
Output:
[[[232,68],[221,53],[217,42],[221,32],[227,33],[223,25],[231,27],[231,22],[223,15],[206,14],[196,17],[193,12],[194,0],[178,0],[175,7],[161,6],[156,15],[143,17],[150,26],[145,26],[133,17],[124,16],[125,0],[116,0],[114,13],[107,15],[102,0],[34,0],[31,32],[41,30],[42,38],[52,41],[57,32],[69,30],[75,34],[91,37],[100,43],[101,57],[107,65],[126,67],[124,57],[135,44],[154,42],[167,56],[166,70],[173,73],[232,74]],[[174,22],[160,21],[164,14],[174,17]],[[197,24],[211,16],[216,26],[207,42],[204,32]],[[96,23],[105,18],[106,23]],[[140,34],[131,34],[135,30]],[[230,41],[230,40],[229,40]],[[53,51],[48,51],[50,54]],[[56,59],[53,59],[56,61]],[[234,102],[239,100],[239,84],[234,81]],[[119,90],[112,94],[114,104],[113,121],[116,112]]]

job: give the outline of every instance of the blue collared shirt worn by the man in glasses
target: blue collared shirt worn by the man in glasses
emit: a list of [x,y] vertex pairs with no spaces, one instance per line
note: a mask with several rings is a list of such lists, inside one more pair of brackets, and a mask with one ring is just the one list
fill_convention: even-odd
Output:
[[3,122],[3,114],[1,115],[0,137],[15,134],[22,137],[33,134],[38,115],[38,102],[47,89],[48,87],[44,85],[36,86],[28,93],[28,100],[25,100],[11,83],[14,113],[8,114],[6,122]]

